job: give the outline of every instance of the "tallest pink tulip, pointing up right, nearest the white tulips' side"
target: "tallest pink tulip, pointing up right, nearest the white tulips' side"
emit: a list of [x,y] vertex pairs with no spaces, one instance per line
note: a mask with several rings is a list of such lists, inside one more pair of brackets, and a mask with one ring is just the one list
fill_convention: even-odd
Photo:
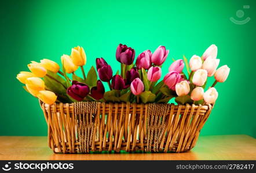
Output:
[[169,50],[166,50],[166,48],[164,46],[159,46],[155,50],[155,52],[153,52],[152,57],[151,57],[151,61],[155,65],[160,66],[166,60],[168,54],[169,54]]

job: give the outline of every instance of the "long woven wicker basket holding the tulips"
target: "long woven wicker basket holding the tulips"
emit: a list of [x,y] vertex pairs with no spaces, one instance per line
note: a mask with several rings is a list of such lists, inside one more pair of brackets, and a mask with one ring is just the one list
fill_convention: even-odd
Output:
[[189,151],[212,110],[211,104],[40,104],[55,153]]

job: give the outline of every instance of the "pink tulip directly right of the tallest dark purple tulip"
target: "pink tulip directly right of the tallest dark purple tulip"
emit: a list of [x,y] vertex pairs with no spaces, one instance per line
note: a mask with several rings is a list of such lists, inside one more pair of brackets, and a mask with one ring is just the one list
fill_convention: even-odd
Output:
[[136,66],[137,69],[145,69],[148,70],[151,67],[151,56],[152,53],[150,50],[145,50],[140,55],[138,55]]

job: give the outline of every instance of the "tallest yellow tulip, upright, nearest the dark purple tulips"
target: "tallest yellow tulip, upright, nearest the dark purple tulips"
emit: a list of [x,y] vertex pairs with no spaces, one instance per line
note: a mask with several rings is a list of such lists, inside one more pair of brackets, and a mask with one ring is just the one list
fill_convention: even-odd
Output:
[[86,63],[85,51],[80,46],[72,48],[70,57],[76,66],[83,66]]

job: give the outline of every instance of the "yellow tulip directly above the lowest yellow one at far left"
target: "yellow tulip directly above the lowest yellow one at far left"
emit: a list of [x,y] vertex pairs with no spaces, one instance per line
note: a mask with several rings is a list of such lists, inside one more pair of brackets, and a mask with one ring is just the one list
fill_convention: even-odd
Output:
[[37,96],[39,91],[45,89],[45,82],[39,77],[30,77],[25,81],[26,88],[33,96]]

